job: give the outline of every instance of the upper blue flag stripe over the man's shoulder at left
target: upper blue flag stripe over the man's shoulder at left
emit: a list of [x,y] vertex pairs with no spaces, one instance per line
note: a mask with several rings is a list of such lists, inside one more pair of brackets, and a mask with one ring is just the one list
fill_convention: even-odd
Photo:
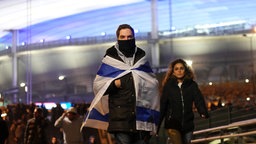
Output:
[[107,65],[105,63],[102,63],[100,66],[99,71],[97,72],[98,75],[103,76],[103,77],[116,77],[120,73],[124,72],[125,70],[120,70],[115,67],[112,67],[110,65]]

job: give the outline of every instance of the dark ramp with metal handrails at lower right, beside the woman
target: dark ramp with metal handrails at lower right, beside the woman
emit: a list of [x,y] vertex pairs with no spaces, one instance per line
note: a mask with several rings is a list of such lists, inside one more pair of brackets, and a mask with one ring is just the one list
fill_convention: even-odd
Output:
[[244,144],[256,141],[255,106],[224,107],[210,112],[208,120],[195,119],[196,131],[192,143],[208,144],[218,140],[224,144]]

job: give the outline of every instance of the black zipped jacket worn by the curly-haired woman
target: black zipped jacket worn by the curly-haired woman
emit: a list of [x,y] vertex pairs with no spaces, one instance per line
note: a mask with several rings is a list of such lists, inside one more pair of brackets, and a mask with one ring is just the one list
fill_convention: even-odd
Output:
[[200,115],[209,116],[204,97],[195,81],[185,79],[180,88],[177,80],[170,78],[163,87],[160,122],[165,118],[166,129],[177,129],[185,133],[193,131],[193,103]]

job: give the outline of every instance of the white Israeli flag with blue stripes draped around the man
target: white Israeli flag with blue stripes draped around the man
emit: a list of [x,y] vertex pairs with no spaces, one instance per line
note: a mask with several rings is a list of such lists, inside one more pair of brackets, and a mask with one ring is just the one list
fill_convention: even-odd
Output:
[[136,129],[156,132],[160,114],[158,81],[145,56],[133,66],[105,56],[93,83],[93,99],[82,127],[107,130],[108,95],[104,95],[113,80],[132,73],[136,92]]

